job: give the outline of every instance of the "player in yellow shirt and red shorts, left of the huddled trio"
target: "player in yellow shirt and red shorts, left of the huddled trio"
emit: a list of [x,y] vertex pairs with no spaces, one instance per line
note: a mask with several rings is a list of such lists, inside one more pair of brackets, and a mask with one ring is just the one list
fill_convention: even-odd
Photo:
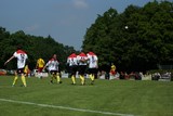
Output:
[[38,69],[39,78],[42,78],[42,70],[43,70],[44,65],[45,65],[45,62],[43,59],[40,57],[37,60],[36,68]]

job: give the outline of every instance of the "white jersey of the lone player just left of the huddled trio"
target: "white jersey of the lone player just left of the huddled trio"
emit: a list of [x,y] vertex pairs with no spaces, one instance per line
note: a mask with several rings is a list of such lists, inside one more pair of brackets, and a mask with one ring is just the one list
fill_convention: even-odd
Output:
[[45,66],[48,66],[48,69],[49,70],[58,70],[58,61],[57,60],[54,60],[54,59],[51,59],[46,64]]

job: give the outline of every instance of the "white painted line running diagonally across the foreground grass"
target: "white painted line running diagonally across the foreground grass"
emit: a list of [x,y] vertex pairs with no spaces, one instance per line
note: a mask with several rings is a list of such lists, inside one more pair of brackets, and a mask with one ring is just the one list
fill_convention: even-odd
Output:
[[134,115],[131,115],[131,114],[120,114],[120,113],[112,113],[112,112],[92,111],[92,109],[84,109],[84,108],[72,108],[72,107],[66,107],[66,106],[38,104],[38,103],[32,103],[32,102],[23,102],[23,101],[15,101],[15,100],[9,100],[9,99],[0,99],[0,101],[18,103],[18,104],[27,104],[27,105],[37,105],[37,106],[41,106],[41,107],[52,107],[52,108],[77,111],[77,112],[97,113],[97,114],[104,114],[104,115],[134,116]]

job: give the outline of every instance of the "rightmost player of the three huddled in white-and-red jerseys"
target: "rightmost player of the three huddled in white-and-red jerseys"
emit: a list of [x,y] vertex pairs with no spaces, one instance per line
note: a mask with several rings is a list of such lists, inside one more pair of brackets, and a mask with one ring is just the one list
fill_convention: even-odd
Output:
[[93,85],[95,76],[97,75],[98,57],[93,52],[89,52],[86,55],[89,62],[89,77],[91,79],[91,85]]

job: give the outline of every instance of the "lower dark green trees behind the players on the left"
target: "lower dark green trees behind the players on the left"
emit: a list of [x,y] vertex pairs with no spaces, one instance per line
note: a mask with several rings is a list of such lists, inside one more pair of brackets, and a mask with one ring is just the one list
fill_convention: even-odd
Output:
[[[53,54],[57,54],[61,68],[64,69],[67,56],[71,52],[76,52],[72,47],[56,42],[50,35],[46,38],[36,37],[26,35],[23,30],[10,34],[5,28],[0,27],[0,68],[4,68],[3,63],[13,55],[17,46],[22,46],[23,50],[27,52],[31,69],[36,67],[39,57],[48,62]],[[5,68],[15,69],[15,60],[9,63]]]

